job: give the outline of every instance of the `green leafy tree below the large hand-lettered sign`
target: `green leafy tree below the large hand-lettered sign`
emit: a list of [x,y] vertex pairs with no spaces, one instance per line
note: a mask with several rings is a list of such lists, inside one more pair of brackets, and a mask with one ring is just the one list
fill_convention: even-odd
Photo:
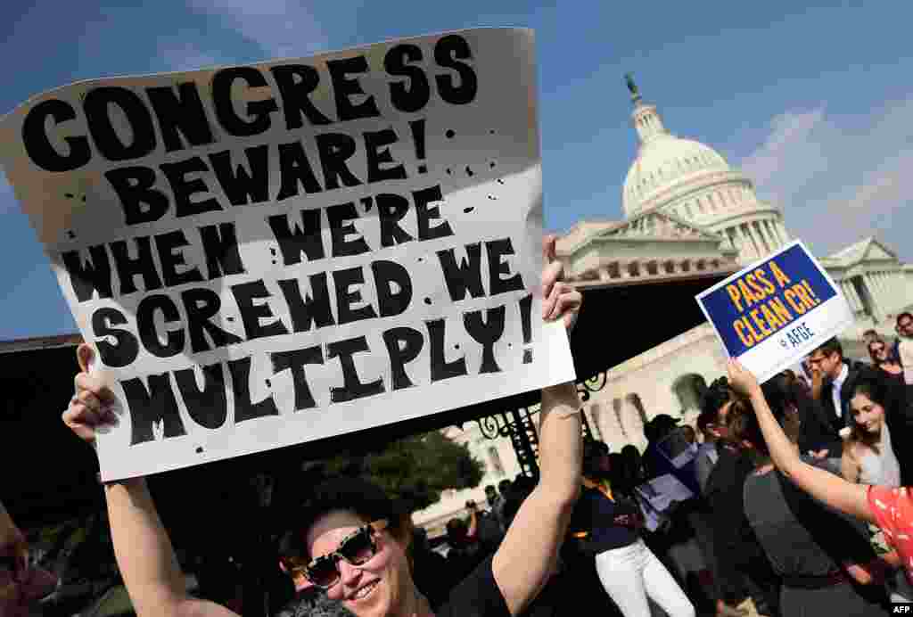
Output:
[[485,476],[485,465],[465,444],[436,431],[411,435],[375,452],[337,456],[327,461],[326,469],[365,477],[416,510],[435,504],[449,488],[475,488]]

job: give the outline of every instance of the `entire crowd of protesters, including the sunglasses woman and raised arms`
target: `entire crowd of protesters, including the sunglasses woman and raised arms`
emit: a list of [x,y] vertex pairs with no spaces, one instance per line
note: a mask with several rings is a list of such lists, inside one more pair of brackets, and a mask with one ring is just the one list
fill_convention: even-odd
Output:
[[[543,318],[572,326],[580,294],[545,245]],[[486,487],[433,549],[410,511],[359,478],[310,486],[282,534],[294,588],[281,617],[616,614],[879,615],[913,601],[913,316],[759,384],[737,361],[703,392],[694,427],[659,414],[643,455],[582,441],[573,384],[542,391],[540,476]],[[111,393],[79,348],[65,423],[91,443]],[[143,478],[105,486],[136,614],[236,614],[185,591]],[[0,617],[38,614],[53,577],[0,505]],[[697,554],[697,565],[683,556]],[[692,559],[693,560],[693,559]]]

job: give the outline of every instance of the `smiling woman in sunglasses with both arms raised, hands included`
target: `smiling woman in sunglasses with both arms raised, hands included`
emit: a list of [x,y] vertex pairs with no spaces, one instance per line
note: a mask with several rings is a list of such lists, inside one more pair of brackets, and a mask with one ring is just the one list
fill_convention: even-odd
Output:
[[[542,316],[571,328],[581,294],[560,282],[555,239],[543,242]],[[113,420],[112,393],[89,375],[92,350],[79,347],[84,372],[64,422],[92,442],[96,427]],[[507,536],[436,612],[436,617],[519,615],[551,577],[572,508],[580,494],[582,437],[575,385],[542,390],[540,482],[519,508]],[[356,486],[357,485],[357,486]],[[435,617],[416,590],[409,567],[408,514],[363,482],[336,481],[314,491],[281,559],[299,590],[317,586],[358,617]],[[230,617],[235,613],[184,591],[171,540],[142,477],[105,487],[111,537],[137,615]]]

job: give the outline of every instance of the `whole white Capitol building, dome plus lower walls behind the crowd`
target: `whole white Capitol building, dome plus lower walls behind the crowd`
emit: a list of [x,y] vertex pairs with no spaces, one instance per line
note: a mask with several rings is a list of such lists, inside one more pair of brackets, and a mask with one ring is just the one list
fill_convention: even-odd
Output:
[[[624,220],[581,220],[560,235],[558,254],[579,288],[662,285],[679,277],[729,274],[775,252],[793,238],[782,209],[758,199],[754,184],[729,166],[719,152],[666,130],[656,106],[645,103],[628,80],[631,120],[640,145],[624,179]],[[894,318],[913,305],[913,265],[901,264],[888,246],[866,237],[831,256],[822,266],[842,288],[855,312],[845,331],[845,349],[867,359],[866,329],[894,336]],[[604,344],[611,344],[606,332]],[[618,452],[625,444],[641,450],[643,424],[657,413],[694,421],[698,392],[725,374],[726,356],[709,324],[616,367],[606,367],[605,388],[586,403],[596,438]],[[485,462],[479,488],[451,492],[415,514],[415,522],[454,516],[468,498],[484,503],[483,486],[519,473],[508,438],[486,439],[475,423],[446,434]]]

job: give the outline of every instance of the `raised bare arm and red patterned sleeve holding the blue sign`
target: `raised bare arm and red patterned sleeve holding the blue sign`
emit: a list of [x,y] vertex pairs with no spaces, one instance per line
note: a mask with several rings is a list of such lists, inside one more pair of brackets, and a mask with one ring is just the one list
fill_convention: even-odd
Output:
[[729,382],[748,398],[772,464],[818,501],[881,528],[896,551],[885,556],[888,565],[902,566],[913,581],[913,496],[908,488],[851,483],[803,460],[771,412],[758,380],[739,361],[729,360]]

